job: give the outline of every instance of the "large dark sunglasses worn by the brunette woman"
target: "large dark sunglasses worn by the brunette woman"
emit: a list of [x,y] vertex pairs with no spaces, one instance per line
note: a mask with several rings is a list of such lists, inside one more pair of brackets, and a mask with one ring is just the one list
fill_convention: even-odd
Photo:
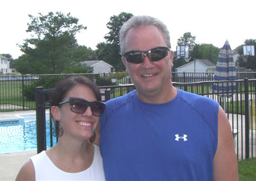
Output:
[[79,97],[69,97],[69,99],[61,101],[60,103],[58,103],[58,105],[62,105],[63,103],[69,103],[70,110],[78,114],[83,114],[84,112],[86,112],[86,109],[90,106],[92,114],[95,116],[101,116],[106,107],[105,103],[103,102],[89,102]]

